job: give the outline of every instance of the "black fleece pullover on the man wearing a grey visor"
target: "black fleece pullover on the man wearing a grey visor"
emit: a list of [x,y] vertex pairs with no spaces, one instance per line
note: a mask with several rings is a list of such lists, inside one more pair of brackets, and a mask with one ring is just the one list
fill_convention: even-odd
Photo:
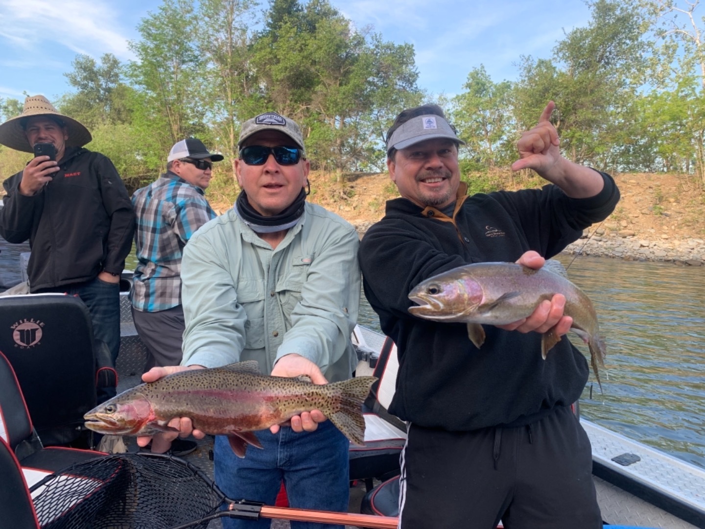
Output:
[[486,325],[477,349],[465,324],[412,317],[407,296],[421,281],[468,263],[515,262],[527,250],[553,257],[613,211],[619,191],[602,175],[603,190],[585,199],[553,185],[473,195],[455,223],[405,198],[387,202],[359,256],[364,293],[398,348],[391,413],[422,427],[468,431],[529,424],[577,401],[588,367],[567,337],[543,360],[540,334]]

